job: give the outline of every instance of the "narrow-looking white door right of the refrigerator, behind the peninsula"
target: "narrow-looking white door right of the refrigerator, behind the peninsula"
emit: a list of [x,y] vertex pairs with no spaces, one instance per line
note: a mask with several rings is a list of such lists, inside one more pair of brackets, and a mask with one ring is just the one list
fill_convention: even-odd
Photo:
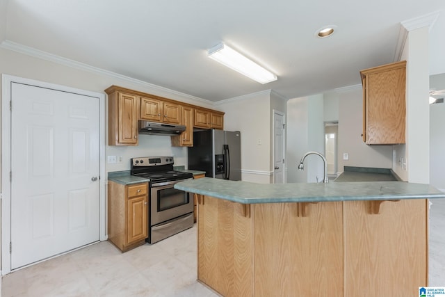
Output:
[[284,114],[273,111],[273,183],[284,184]]

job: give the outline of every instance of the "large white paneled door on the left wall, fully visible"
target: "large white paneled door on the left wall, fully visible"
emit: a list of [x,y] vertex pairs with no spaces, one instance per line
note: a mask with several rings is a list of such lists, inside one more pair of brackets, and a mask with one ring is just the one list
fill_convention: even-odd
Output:
[[99,241],[99,98],[11,83],[11,269]]

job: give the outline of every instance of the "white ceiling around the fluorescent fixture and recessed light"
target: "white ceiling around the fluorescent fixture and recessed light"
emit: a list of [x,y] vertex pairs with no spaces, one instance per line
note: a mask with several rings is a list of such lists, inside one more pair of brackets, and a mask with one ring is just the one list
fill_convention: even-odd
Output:
[[[0,41],[213,102],[272,89],[291,99],[360,83],[398,55],[401,22],[438,13],[430,74],[445,72],[444,0],[0,0]],[[330,38],[317,29],[334,24]],[[6,42],[4,40],[7,40]],[[218,42],[277,74],[261,85],[207,58]]]

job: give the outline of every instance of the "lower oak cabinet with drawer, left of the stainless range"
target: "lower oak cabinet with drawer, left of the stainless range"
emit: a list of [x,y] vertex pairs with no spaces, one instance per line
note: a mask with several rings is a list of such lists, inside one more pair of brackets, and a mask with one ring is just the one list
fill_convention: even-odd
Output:
[[108,182],[108,240],[122,252],[148,237],[148,184]]

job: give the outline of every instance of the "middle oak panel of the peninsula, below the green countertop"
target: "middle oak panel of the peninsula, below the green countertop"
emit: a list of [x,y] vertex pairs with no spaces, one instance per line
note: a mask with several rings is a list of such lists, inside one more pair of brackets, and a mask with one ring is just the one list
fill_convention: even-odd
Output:
[[254,296],[343,296],[341,202],[253,207]]

